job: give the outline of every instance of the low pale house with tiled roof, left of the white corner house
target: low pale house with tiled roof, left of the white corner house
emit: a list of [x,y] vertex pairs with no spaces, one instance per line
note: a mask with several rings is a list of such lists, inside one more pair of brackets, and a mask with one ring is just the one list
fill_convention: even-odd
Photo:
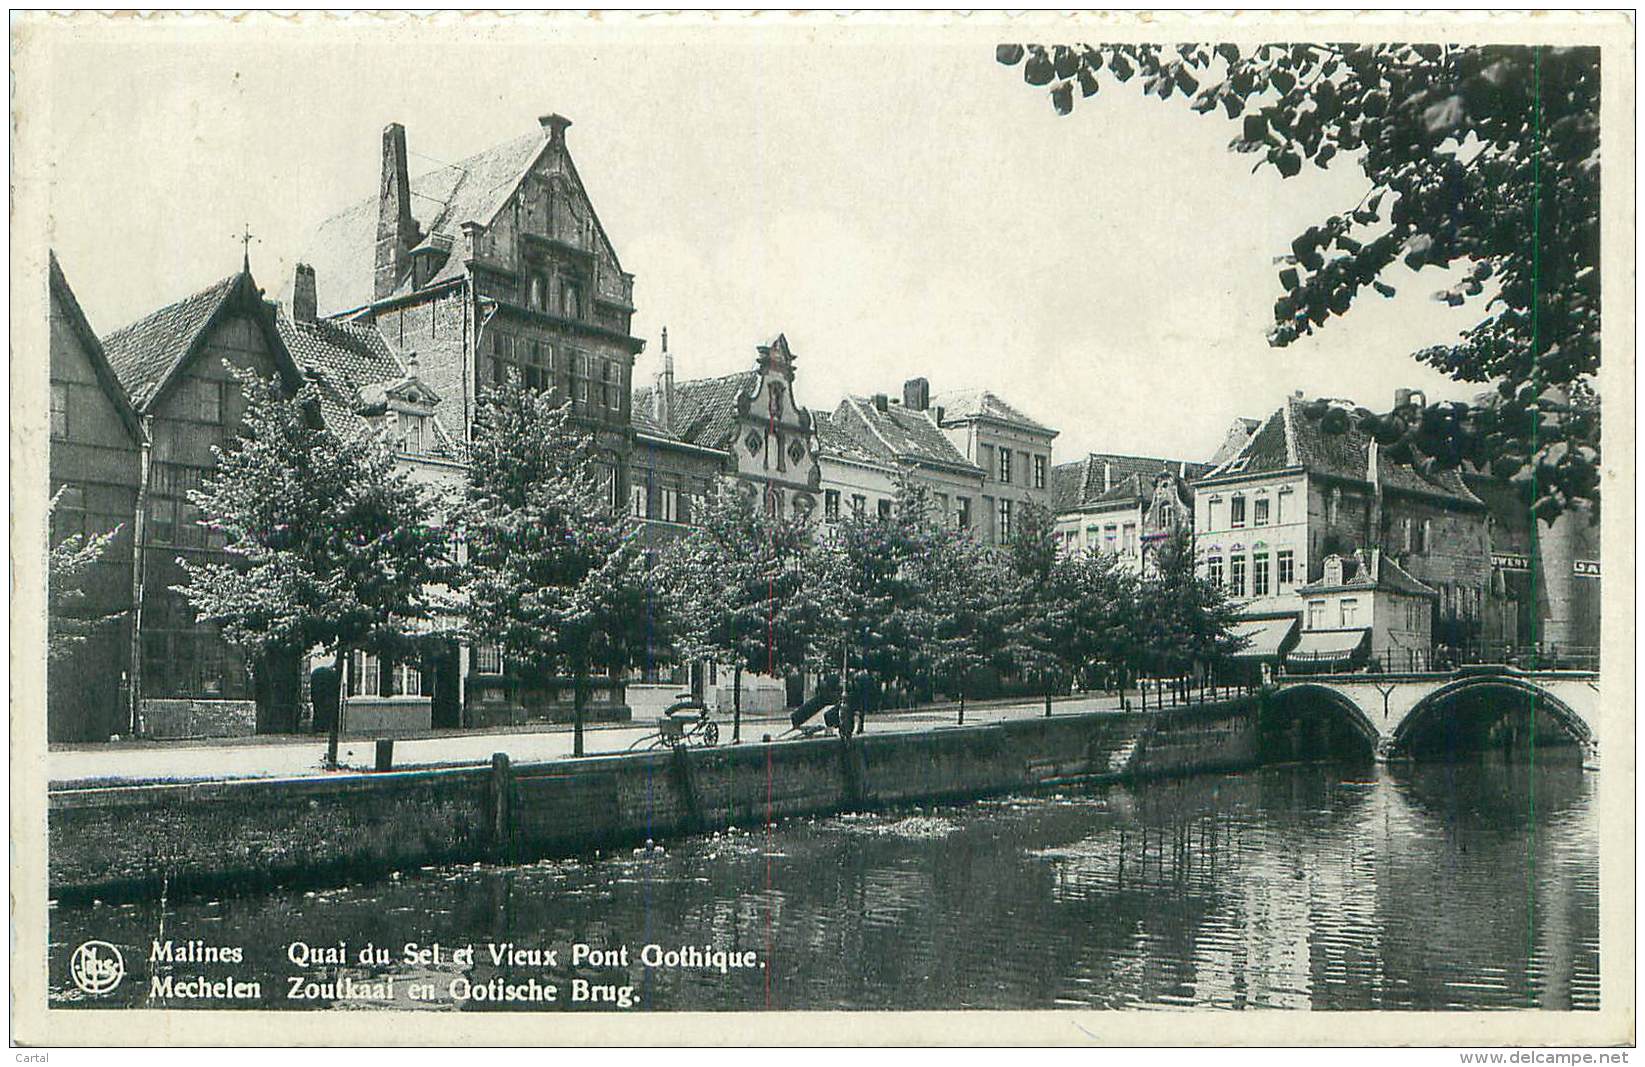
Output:
[[1189,524],[1193,483],[1211,464],[1092,452],[1051,469],[1056,536],[1061,551],[1109,552],[1142,569],[1148,554]]

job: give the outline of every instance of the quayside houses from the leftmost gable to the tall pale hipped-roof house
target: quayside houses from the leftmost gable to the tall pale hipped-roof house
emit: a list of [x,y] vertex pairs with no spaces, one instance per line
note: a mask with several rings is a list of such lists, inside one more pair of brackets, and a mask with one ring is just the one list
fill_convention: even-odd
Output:
[[[1030,503],[1051,503],[1056,431],[994,393],[847,396],[813,411],[783,335],[745,372],[633,381],[645,342],[632,332],[623,271],[566,148],[571,122],[540,128],[410,178],[406,133],[382,138],[382,181],[319,224],[280,299],[250,261],[219,283],[99,337],[51,260],[53,543],[118,534],[79,610],[114,615],[54,659],[48,735],[189,737],[306,725],[304,666],[247,663],[174,592],[179,559],[222,554],[188,493],[232,441],[243,401],[235,370],[313,383],[345,432],[387,434],[411,477],[456,488],[484,390],[515,380],[568,400],[595,434],[614,505],[661,543],[689,528],[717,478],[739,478],[785,515],[836,523],[882,515],[897,482],[926,482],[961,528],[1008,541]],[[416,663],[359,656],[350,723],[359,730],[558,718],[569,691],[521,679],[490,648],[451,643]],[[622,715],[623,681],[592,712]]]

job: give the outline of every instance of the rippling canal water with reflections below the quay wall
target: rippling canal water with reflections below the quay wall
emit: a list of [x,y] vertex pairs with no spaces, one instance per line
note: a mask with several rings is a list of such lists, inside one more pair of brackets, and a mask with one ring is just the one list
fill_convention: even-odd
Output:
[[[633,1011],[1594,1009],[1596,806],[1597,779],[1574,766],[1278,766],[336,889],[59,904],[51,990],[99,1008],[615,1006],[572,1001],[581,980]],[[89,939],[127,965],[95,1000],[69,982]],[[156,942],[173,962],[148,958]],[[347,962],[299,965],[293,942],[342,942]],[[451,958],[461,945],[472,962]],[[494,945],[556,958],[497,963]],[[610,955],[572,965],[572,945]],[[392,958],[360,963],[364,949]],[[683,949],[686,965],[642,962]],[[217,958],[176,958],[191,954]],[[168,977],[171,998],[155,991]],[[191,978],[257,988],[204,1001]],[[554,1003],[477,991],[543,986]]]

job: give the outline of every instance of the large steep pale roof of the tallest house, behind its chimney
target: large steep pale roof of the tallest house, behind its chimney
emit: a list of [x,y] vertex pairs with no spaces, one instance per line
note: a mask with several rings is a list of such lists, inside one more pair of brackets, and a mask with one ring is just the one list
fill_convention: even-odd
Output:
[[[540,130],[413,178],[411,217],[424,233],[423,245],[434,242],[438,233],[461,247],[464,222],[489,225],[546,146],[548,136]],[[321,222],[304,243],[301,261],[314,268],[319,314],[334,316],[372,303],[377,209],[377,197],[360,201]],[[462,256],[454,253],[428,284],[461,273]]]

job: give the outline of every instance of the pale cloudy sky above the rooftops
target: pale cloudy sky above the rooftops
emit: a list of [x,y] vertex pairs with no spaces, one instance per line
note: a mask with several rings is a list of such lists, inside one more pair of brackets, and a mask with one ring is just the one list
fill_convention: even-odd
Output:
[[[1104,85],[1069,117],[994,61],[1005,28],[668,18],[105,20],[46,53],[51,243],[102,334],[234,273],[280,294],[306,233],[375,197],[382,128],[429,169],[572,118],[627,271],[635,367],[752,365],[798,400],[990,388],[1087,450],[1206,459],[1301,390],[1477,391],[1410,353],[1471,326],[1403,266],[1314,337],[1267,344],[1275,256],[1359,202],[1351,159],[1281,179],[1235,123]],[[1020,35],[1018,35],[1020,36]],[[1043,36],[1043,35],[1041,35]],[[319,281],[326,284],[324,279]]]

